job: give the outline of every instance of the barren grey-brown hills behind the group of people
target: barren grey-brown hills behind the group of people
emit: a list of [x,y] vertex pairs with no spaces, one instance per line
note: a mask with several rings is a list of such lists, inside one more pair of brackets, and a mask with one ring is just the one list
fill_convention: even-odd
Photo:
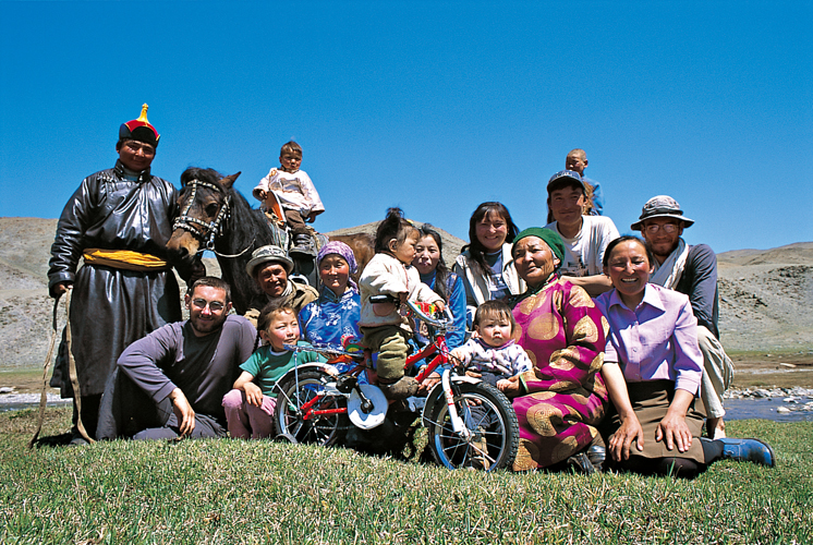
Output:
[[[53,307],[46,275],[56,219],[0,218],[0,368],[43,364]],[[333,231],[375,233],[377,223]],[[464,241],[437,229],[451,265]],[[331,233],[328,233],[331,234]],[[720,330],[729,350],[813,347],[813,242],[719,254]],[[205,259],[218,275],[215,259]],[[61,317],[63,323],[64,317]]]

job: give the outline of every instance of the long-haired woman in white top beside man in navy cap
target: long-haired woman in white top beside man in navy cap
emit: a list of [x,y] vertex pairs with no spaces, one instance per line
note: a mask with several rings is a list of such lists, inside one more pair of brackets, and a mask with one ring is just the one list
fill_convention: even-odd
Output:
[[[468,324],[474,311],[486,301],[519,295],[525,282],[517,275],[511,244],[519,229],[501,203],[483,203],[469,220],[468,245],[454,262],[454,272],[463,279]],[[506,241],[509,241],[508,243]]]

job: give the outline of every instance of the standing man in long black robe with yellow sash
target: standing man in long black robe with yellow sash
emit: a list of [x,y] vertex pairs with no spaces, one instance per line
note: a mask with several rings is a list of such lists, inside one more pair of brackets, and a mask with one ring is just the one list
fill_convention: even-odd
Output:
[[[119,129],[116,166],[87,177],[68,201],[51,246],[49,293],[56,298],[73,290],[71,351],[89,437],[95,436],[101,393],[119,354],[151,330],[181,319],[178,283],[166,250],[178,193],[150,173],[158,140],[144,105],[138,119]],[[77,270],[81,258],[84,266]],[[184,279],[192,275],[179,272]],[[75,399],[65,342],[51,386]],[[85,443],[77,419],[74,401],[72,444]]]

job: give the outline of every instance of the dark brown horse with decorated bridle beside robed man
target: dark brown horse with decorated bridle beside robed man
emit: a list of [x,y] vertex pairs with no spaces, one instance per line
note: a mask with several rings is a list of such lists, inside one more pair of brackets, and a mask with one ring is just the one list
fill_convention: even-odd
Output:
[[[281,245],[284,237],[268,223],[262,210],[252,208],[234,190],[240,172],[223,178],[216,170],[195,167],[181,174],[178,197],[181,215],[175,219],[167,249],[177,261],[186,264],[205,250],[214,252],[223,280],[231,286],[234,310],[245,314],[251,301],[262,294],[254,279],[245,272],[252,252],[268,244]],[[375,253],[373,237],[354,233],[331,240],[344,242],[353,251],[359,264],[357,280]],[[313,261],[293,258],[293,262],[294,275],[316,277]]]

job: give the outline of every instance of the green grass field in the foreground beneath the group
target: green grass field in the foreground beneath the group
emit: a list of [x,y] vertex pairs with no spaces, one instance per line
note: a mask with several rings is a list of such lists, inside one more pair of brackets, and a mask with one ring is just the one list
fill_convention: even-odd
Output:
[[[32,410],[0,414],[0,543],[811,543],[813,423],[727,423],[778,464],[694,481],[450,472],[270,441],[26,449]],[[64,433],[49,409],[41,436]]]

